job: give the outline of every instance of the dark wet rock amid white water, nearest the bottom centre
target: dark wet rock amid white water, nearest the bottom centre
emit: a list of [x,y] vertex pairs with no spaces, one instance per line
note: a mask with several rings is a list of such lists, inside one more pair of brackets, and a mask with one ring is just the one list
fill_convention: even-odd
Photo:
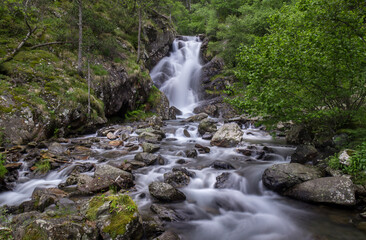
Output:
[[186,196],[172,185],[163,182],[152,182],[149,185],[150,194],[163,202],[179,202],[186,200]]

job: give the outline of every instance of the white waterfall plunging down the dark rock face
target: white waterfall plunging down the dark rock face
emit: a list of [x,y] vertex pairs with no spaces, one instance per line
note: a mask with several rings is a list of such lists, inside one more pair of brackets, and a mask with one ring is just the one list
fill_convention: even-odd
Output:
[[191,113],[198,102],[201,40],[199,37],[179,37],[173,42],[169,56],[151,71],[154,84],[168,97],[171,106],[183,114]]

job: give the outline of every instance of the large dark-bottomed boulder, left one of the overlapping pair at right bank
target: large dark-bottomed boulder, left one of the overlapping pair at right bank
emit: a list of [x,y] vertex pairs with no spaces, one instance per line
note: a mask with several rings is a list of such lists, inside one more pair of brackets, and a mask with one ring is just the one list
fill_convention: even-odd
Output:
[[296,184],[322,176],[323,173],[315,167],[299,163],[283,163],[267,168],[263,173],[262,181],[267,188],[283,193]]

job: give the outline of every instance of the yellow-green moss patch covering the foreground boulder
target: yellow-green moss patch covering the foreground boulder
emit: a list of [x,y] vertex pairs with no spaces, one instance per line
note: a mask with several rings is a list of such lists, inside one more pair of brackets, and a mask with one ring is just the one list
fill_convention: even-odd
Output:
[[137,206],[128,195],[96,196],[89,202],[87,219],[97,220],[98,209],[107,202],[109,202],[110,224],[104,227],[103,232],[109,233],[115,239],[118,235],[123,235],[127,224],[135,219]]

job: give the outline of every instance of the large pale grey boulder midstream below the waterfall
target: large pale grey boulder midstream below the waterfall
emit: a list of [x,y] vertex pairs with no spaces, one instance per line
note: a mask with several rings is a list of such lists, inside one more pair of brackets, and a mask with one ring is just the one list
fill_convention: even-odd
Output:
[[236,123],[224,124],[212,137],[211,145],[219,147],[235,147],[242,139],[243,133]]

